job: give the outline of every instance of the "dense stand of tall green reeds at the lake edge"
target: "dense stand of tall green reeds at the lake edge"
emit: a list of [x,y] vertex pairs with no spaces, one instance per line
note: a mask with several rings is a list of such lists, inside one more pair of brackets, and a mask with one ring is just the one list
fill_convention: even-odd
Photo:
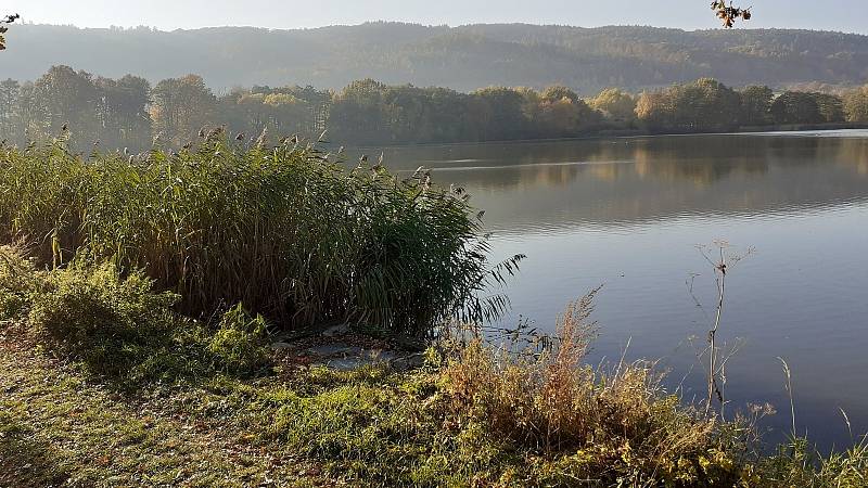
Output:
[[141,269],[209,314],[238,303],[286,328],[361,321],[423,335],[492,319],[490,268],[465,195],[317,144],[266,146],[214,131],[180,153],[72,154],[61,140],[0,150],[0,228],[54,266],[76,255]]

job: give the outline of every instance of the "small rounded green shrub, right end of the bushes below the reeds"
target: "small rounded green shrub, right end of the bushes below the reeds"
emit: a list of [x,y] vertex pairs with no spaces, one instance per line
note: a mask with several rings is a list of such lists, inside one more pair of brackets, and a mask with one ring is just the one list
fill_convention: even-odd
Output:
[[266,323],[263,316],[247,314],[241,304],[227,311],[219,330],[208,343],[218,369],[237,375],[250,375],[269,362]]

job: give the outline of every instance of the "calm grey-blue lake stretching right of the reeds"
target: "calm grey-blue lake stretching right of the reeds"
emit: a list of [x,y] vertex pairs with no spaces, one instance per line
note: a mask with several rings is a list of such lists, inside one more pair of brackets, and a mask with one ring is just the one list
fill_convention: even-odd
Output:
[[727,278],[718,341],[740,345],[727,411],[771,402],[778,414],[766,424],[779,439],[790,425],[783,358],[800,433],[851,444],[841,410],[855,435],[868,432],[868,131],[412,146],[384,157],[464,187],[486,210],[496,257],[527,255],[503,325],[521,316],[553,331],[567,301],[603,285],[588,360],[660,359],[687,399],[704,395],[695,352],[716,297],[697,245],[754,248]]

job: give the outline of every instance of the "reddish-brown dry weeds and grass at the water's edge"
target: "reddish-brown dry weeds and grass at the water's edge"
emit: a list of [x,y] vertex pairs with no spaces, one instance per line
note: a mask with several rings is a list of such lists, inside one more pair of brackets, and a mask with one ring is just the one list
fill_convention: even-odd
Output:
[[652,364],[605,371],[584,363],[595,334],[591,303],[592,295],[566,308],[556,347],[541,356],[480,342],[461,350],[443,371],[457,422],[480,423],[549,459],[580,458],[554,470],[556,478],[602,486],[615,478],[630,479],[627,486],[737,483],[741,468],[724,452],[728,441],[716,422],[667,395]]

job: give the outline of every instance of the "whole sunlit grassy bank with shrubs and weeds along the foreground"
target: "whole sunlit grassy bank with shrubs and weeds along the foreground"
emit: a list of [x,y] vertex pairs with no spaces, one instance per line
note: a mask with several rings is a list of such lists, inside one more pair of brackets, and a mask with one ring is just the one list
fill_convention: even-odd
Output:
[[[650,364],[584,364],[590,303],[558,346],[439,343],[411,372],[291,367],[264,319],[217,326],[111,266],[43,271],[2,251],[0,486],[858,487],[861,447],[762,455]],[[762,414],[762,412],[754,414]]]

